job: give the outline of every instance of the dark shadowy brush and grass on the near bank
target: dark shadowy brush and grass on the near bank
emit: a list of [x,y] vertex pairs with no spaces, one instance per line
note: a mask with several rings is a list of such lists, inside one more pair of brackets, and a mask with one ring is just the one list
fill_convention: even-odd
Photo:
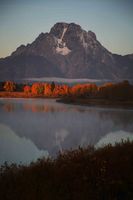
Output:
[[66,151],[0,169],[2,200],[133,199],[133,142]]

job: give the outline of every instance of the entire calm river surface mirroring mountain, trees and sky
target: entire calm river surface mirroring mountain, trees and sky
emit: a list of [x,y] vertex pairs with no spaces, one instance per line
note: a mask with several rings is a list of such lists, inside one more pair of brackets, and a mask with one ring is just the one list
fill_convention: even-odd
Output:
[[79,146],[133,140],[133,110],[0,99],[0,164],[30,163]]

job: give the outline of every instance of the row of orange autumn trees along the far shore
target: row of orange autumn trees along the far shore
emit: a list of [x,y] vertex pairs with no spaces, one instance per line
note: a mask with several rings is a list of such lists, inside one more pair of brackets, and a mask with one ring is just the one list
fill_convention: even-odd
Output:
[[111,100],[133,100],[133,85],[125,80],[120,83],[105,83],[97,86],[94,83],[55,84],[36,82],[29,84],[16,84],[13,81],[6,81],[1,84],[1,90],[7,92],[21,91],[28,95],[46,97],[79,97],[79,98],[104,98]]

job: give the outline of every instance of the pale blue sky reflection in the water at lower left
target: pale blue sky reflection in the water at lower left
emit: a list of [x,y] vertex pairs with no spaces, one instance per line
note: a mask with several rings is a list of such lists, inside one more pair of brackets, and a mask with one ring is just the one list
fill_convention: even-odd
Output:
[[48,157],[48,152],[39,150],[32,141],[17,136],[8,126],[0,124],[0,164],[30,163],[39,157]]

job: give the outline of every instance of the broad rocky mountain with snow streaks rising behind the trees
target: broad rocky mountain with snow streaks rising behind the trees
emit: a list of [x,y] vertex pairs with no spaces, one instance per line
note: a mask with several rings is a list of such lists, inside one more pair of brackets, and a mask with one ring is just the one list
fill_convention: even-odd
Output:
[[92,31],[56,23],[49,33],[0,59],[0,80],[34,77],[132,79],[133,54],[112,54]]

